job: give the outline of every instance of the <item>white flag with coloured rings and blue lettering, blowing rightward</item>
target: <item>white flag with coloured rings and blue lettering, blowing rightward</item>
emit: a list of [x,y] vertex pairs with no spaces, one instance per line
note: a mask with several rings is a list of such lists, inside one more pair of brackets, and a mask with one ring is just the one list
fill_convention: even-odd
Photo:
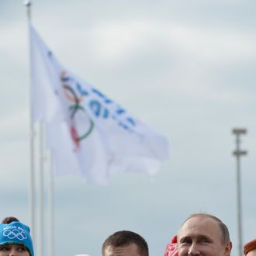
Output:
[[47,123],[55,172],[99,184],[113,172],[154,175],[168,141],[59,64],[31,25],[29,32],[33,122]]

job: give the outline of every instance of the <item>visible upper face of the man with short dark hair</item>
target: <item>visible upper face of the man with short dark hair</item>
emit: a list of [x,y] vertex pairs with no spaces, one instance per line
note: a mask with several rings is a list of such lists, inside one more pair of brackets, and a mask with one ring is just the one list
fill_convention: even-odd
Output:
[[122,247],[107,246],[103,256],[141,256],[138,253],[136,244],[129,244]]

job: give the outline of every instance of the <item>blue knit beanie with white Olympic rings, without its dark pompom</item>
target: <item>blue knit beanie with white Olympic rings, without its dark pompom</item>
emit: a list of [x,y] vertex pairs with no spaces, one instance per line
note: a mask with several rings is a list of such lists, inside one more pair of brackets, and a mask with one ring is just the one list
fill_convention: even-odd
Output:
[[12,221],[9,224],[0,223],[0,244],[23,244],[30,256],[34,256],[33,242],[29,232],[29,227],[18,221]]

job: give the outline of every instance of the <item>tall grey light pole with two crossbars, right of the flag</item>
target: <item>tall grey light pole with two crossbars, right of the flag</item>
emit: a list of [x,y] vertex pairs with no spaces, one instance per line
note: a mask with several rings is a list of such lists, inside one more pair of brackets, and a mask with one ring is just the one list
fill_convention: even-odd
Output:
[[243,255],[243,242],[242,242],[242,221],[241,221],[241,187],[240,187],[240,156],[246,155],[246,150],[240,150],[240,135],[246,134],[246,129],[233,129],[236,136],[237,149],[233,154],[237,158],[237,235],[238,235],[238,254]]

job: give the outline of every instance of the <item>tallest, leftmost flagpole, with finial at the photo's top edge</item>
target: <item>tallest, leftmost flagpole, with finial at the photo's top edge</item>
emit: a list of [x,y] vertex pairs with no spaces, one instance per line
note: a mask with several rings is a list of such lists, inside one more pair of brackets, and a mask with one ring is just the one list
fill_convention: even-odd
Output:
[[[24,1],[23,5],[26,6],[26,15],[28,22],[31,20],[31,2]],[[30,59],[30,79],[31,79],[31,52],[29,54]],[[32,99],[31,99],[31,80],[30,80],[30,173],[29,173],[29,223],[30,230],[33,237],[35,237],[35,156],[34,156],[34,127],[32,119]]]

